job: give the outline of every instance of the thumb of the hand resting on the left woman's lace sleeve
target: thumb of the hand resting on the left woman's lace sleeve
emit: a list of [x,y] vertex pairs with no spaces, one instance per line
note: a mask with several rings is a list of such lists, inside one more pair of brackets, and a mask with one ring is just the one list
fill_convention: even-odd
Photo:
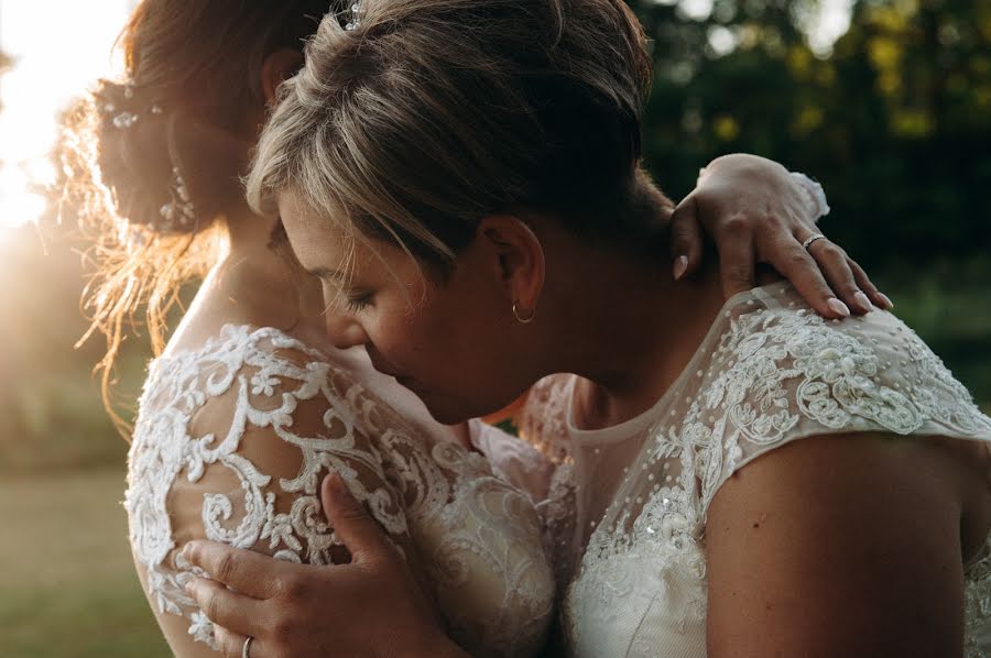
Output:
[[320,504],[334,534],[350,551],[355,562],[391,552],[392,544],[364,506],[351,494],[338,473],[324,478]]

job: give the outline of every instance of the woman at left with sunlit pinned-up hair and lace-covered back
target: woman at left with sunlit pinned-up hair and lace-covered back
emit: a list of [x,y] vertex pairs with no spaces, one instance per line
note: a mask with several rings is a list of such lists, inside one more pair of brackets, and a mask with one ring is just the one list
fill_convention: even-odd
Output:
[[[105,386],[141,304],[164,348],[149,369],[129,458],[135,564],[176,655],[227,646],[230,636],[214,635],[184,589],[194,570],[181,549],[207,538],[283,561],[347,561],[317,496],[335,471],[401,548],[427,592],[422,611],[434,618],[436,610],[472,654],[529,655],[543,643],[554,591],[533,507],[546,496],[549,464],[479,421],[439,425],[363,349],[334,348],[318,281],[277,239],[273,249],[275,221],[243,200],[240,176],[268,106],[327,9],[326,0],[145,0],[122,35],[126,79],[102,81],[72,114],[67,195],[96,241],[88,301],[110,348]],[[722,160],[709,173],[716,184],[683,206],[679,273],[700,260],[690,239],[698,216],[729,239],[725,257],[742,256],[744,278],[756,249],[784,263],[823,312],[849,314],[812,259],[793,262],[796,244],[780,241],[810,230],[824,206],[816,186],[754,157]],[[748,216],[763,222],[755,238]],[[884,303],[846,259],[824,263],[860,311],[870,304],[854,278]],[[199,275],[164,346],[176,288]]]

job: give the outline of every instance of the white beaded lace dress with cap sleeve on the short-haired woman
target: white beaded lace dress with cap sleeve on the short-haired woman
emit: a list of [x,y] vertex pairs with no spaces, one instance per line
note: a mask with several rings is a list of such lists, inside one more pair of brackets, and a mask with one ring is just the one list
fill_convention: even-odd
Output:
[[[535,386],[521,429],[560,464],[541,511],[562,632],[579,657],[706,655],[706,512],[761,454],[863,431],[991,450],[991,418],[897,318],[825,320],[785,283],[729,300],[679,379],[632,420],[577,429],[575,382]],[[965,572],[967,656],[991,656],[991,537]]]

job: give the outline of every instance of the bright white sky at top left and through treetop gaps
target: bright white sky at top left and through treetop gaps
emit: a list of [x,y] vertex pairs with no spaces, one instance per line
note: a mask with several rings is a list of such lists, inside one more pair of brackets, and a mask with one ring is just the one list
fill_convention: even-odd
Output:
[[[688,18],[705,19],[712,11],[712,0],[655,1],[678,2]],[[827,54],[847,31],[852,1],[818,0],[809,34],[814,51]],[[55,118],[92,80],[120,69],[113,42],[134,4],[137,0],[0,0],[0,48],[15,59],[0,80],[0,238],[4,227],[42,215],[44,199],[31,194],[30,183],[54,179],[46,154],[56,136]],[[719,36],[726,35],[714,33]],[[734,44],[712,45],[725,52]]]

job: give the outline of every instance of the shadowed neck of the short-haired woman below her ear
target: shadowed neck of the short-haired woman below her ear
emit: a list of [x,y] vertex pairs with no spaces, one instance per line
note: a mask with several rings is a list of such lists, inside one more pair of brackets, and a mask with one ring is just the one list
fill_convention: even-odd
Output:
[[675,282],[661,253],[649,261],[577,241],[562,246],[553,254],[562,266],[547,277],[558,322],[547,336],[562,355],[549,372],[589,380],[579,388],[584,425],[620,423],[653,406],[688,364],[722,306],[718,278],[710,271]]

